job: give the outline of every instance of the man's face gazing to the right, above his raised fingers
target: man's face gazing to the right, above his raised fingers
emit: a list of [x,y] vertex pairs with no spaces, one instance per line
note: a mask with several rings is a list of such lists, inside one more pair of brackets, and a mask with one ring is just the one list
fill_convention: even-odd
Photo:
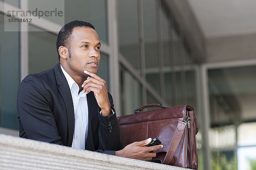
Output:
[[76,27],[70,41],[71,56],[67,57],[68,73],[85,77],[84,70],[97,73],[101,46],[97,32],[92,28]]

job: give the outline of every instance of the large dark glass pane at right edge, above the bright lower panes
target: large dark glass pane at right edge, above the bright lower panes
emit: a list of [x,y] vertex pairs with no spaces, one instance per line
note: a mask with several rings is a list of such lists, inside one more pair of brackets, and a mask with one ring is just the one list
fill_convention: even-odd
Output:
[[212,124],[256,119],[256,66],[209,70],[208,76]]

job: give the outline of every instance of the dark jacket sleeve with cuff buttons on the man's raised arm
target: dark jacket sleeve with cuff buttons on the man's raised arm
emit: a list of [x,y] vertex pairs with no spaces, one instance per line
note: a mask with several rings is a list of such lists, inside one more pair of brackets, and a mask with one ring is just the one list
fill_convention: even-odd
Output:
[[111,94],[108,94],[108,97],[114,113],[109,116],[102,116],[99,113],[99,147],[97,151],[113,155],[114,151],[121,150],[123,146],[120,142],[120,129],[116,119],[113,98]]

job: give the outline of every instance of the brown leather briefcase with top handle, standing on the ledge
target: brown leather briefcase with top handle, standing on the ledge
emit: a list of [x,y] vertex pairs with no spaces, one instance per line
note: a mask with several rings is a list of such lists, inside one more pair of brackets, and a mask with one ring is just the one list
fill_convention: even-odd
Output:
[[[149,107],[162,109],[141,112]],[[124,147],[149,137],[158,138],[163,143],[163,148],[156,150],[157,156],[152,161],[198,169],[195,139],[198,123],[191,106],[166,107],[151,104],[137,108],[134,113],[117,118]]]

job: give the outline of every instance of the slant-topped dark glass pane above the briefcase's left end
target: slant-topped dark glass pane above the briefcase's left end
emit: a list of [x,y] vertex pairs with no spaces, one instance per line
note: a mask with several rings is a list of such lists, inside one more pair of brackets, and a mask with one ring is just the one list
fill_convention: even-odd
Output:
[[140,83],[120,65],[121,106],[122,115],[133,114],[142,105],[142,90]]

